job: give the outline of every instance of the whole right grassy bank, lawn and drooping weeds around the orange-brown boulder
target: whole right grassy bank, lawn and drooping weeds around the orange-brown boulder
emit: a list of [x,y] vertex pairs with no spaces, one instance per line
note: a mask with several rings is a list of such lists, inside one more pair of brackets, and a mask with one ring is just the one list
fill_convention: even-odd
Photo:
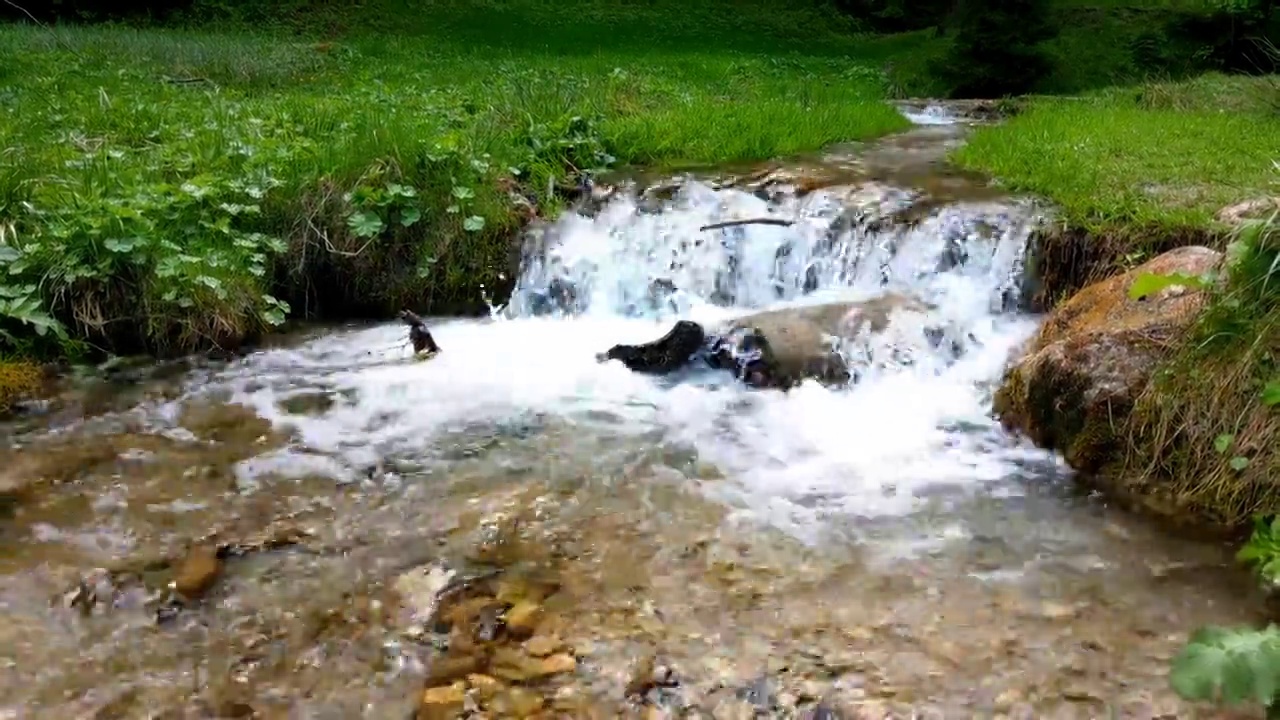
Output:
[[1280,196],[1280,81],[1183,83],[1039,99],[955,159],[1060,208],[1041,264],[1053,297],[1174,245],[1226,249],[1222,282],[1152,379],[1120,470],[1188,514],[1240,524],[1280,511],[1280,215],[1220,210]]

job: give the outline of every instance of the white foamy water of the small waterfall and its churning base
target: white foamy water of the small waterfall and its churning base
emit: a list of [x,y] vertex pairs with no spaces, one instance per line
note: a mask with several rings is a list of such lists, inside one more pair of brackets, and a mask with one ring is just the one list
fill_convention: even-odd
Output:
[[[1016,492],[1010,479],[1025,465],[1052,462],[988,413],[1009,354],[1036,327],[1016,310],[1030,210],[952,205],[913,228],[877,229],[872,219],[906,196],[835,188],[771,204],[689,182],[660,213],[617,199],[595,218],[548,228],[503,313],[433,325],[443,347],[434,360],[411,361],[403,327],[384,325],[253,355],[224,379],[352,475],[425,457],[445,433],[554,421],[691,451],[726,477],[704,483],[709,492],[792,525]],[[699,229],[767,215],[796,223]],[[886,291],[937,310],[850,342],[859,380],[847,388],[750,391],[726,374],[654,378],[595,360],[614,343],[657,338],[677,316],[714,324]],[[282,409],[317,391],[335,400],[324,413]]]

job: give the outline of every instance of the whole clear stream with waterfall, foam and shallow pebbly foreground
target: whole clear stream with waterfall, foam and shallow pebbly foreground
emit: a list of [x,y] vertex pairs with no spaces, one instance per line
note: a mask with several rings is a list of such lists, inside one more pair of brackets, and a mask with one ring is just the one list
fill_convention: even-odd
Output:
[[[5,430],[0,717],[403,720],[447,650],[422,583],[503,573],[552,577],[529,602],[572,671],[471,676],[476,717],[1192,716],[1167,660],[1256,620],[1247,579],[992,420],[1039,210],[910,117],[535,231],[508,306],[439,319],[426,363],[388,324],[69,383]],[[794,224],[699,229],[760,217]],[[891,291],[936,310],[849,342],[847,388],[595,360]]]

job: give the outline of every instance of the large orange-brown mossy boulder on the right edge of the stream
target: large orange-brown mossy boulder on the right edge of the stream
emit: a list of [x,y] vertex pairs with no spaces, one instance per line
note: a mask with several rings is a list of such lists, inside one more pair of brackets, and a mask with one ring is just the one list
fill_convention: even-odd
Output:
[[1055,309],[996,392],[1005,428],[1060,451],[1082,473],[1096,475],[1117,461],[1117,430],[1204,301],[1181,284],[1137,300],[1129,290],[1148,273],[1202,275],[1221,259],[1208,247],[1179,247]]

